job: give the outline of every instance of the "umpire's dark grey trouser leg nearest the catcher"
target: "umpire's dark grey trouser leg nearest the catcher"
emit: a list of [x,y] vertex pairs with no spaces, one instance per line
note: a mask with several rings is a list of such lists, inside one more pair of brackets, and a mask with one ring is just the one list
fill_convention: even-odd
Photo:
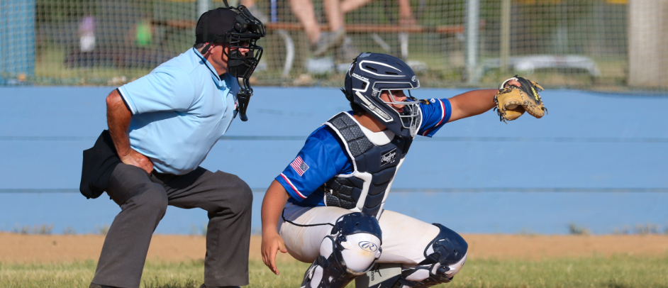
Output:
[[162,180],[169,205],[208,212],[206,286],[247,285],[252,191],[246,182],[236,175],[213,173],[202,167],[187,175]]

